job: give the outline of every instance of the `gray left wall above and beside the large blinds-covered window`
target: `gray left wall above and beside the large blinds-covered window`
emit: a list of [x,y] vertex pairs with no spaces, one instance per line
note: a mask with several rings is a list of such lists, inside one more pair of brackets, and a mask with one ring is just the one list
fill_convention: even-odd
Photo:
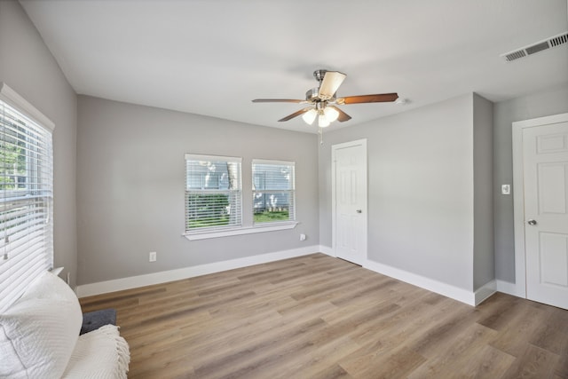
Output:
[[77,272],[75,227],[76,95],[42,37],[14,0],[0,1],[0,82],[55,122],[54,159],[54,260]]

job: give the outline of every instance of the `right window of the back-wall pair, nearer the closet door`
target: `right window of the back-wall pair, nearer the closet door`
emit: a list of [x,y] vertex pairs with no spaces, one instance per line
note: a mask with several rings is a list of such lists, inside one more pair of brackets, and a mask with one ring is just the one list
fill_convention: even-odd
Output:
[[294,162],[252,162],[253,223],[296,219]]

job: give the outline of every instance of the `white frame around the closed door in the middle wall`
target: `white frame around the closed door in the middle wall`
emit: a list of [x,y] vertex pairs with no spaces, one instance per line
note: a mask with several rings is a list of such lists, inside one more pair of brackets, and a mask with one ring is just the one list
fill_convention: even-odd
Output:
[[363,146],[363,149],[365,150],[365,206],[362,207],[363,209],[363,214],[364,214],[364,223],[365,223],[365,238],[363,238],[363,246],[362,248],[364,248],[365,250],[365,257],[364,257],[364,262],[359,262],[359,265],[365,265],[365,261],[367,261],[367,257],[368,257],[368,251],[367,251],[367,246],[368,246],[368,241],[367,241],[367,237],[368,237],[368,157],[367,157],[367,138],[363,138],[363,139],[356,139],[354,141],[350,141],[350,142],[343,142],[342,144],[335,144],[331,146],[331,249],[333,251],[334,257],[337,257],[337,252],[335,250],[336,248],[336,237],[337,237],[337,233],[335,231],[336,228],[336,217],[337,217],[337,209],[336,209],[336,201],[335,201],[335,154],[336,151],[339,149],[344,149],[347,147],[353,147],[353,146]]

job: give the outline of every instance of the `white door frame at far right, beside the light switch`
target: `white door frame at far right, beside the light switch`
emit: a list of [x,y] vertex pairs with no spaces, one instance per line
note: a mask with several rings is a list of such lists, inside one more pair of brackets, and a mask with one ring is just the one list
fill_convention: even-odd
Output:
[[513,224],[515,234],[515,292],[526,298],[525,187],[523,130],[553,123],[568,122],[568,113],[513,122]]

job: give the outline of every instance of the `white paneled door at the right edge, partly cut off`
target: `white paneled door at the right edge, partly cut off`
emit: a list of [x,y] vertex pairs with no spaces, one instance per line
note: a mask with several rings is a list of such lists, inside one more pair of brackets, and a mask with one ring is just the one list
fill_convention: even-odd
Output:
[[568,309],[568,122],[523,130],[526,297]]

